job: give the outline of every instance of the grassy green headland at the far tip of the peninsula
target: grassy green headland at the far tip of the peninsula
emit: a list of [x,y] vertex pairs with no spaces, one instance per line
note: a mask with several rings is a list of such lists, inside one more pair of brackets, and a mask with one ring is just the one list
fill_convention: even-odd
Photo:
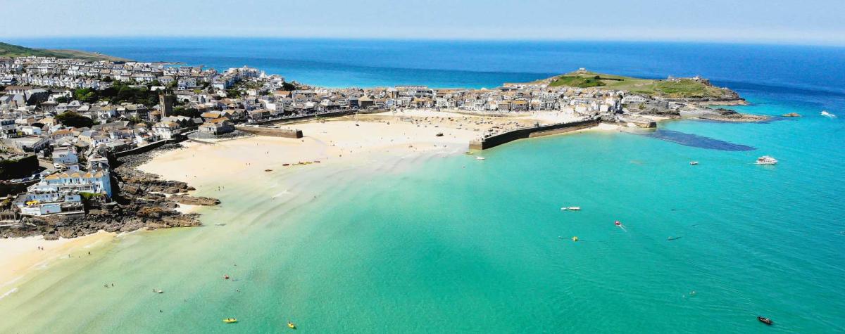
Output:
[[602,89],[627,90],[635,94],[671,100],[742,100],[733,90],[715,87],[706,79],[656,80],[577,71],[541,80],[541,82],[546,82],[551,87],[601,87]]

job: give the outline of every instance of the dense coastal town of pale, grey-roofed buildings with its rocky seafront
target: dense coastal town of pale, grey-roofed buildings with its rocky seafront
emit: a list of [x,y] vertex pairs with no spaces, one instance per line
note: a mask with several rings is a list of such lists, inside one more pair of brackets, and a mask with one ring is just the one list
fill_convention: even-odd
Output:
[[[583,68],[575,74],[591,75]],[[710,86],[702,78],[668,80]],[[326,89],[253,67],[218,71],[201,65],[55,57],[0,58],[0,91],[3,234],[52,238],[104,227],[126,231],[199,224],[178,213],[178,201],[173,199],[202,205],[215,205],[215,200],[189,197],[186,191],[193,188],[184,182],[157,180],[155,175],[118,167],[126,157],[185,140],[299,138],[302,131],[283,125],[318,117],[354,117],[356,122],[406,121],[417,127],[439,127],[440,122],[447,128],[446,121],[452,128],[476,133],[469,148],[483,149],[512,140],[493,140],[508,133],[553,134],[599,122],[655,127],[655,121],[684,111],[707,110],[711,116],[730,117],[732,112],[700,104],[742,102],[735,94],[718,101],[679,100],[601,86],[555,85],[553,79],[494,89],[422,85]],[[402,117],[396,118],[397,113]],[[161,201],[167,204],[144,204]],[[123,224],[116,227],[111,213],[120,202],[124,209],[117,211],[135,217],[131,224],[117,219]],[[133,202],[135,206],[127,209]],[[112,218],[69,233],[44,228],[98,217]],[[162,217],[169,217],[169,223],[161,224]]]

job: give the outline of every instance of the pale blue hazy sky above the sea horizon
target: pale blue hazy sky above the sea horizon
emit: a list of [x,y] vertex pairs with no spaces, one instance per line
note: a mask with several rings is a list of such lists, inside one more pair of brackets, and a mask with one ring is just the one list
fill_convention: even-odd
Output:
[[243,36],[845,46],[845,0],[0,0],[0,39]]

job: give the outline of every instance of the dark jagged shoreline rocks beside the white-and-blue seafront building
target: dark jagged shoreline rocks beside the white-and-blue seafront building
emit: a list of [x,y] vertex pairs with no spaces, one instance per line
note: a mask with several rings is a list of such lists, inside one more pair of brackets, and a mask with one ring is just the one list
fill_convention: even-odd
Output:
[[91,199],[85,202],[85,214],[25,217],[20,224],[0,229],[0,238],[43,235],[46,240],[74,238],[106,232],[131,232],[137,229],[166,229],[199,226],[199,214],[180,213],[179,203],[189,205],[217,205],[210,197],[191,197],[194,187],[175,180],[161,180],[159,175],[144,173],[137,167],[162,151],[182,148],[167,144],[144,154],[117,159],[112,170],[112,186],[119,191],[112,202]]

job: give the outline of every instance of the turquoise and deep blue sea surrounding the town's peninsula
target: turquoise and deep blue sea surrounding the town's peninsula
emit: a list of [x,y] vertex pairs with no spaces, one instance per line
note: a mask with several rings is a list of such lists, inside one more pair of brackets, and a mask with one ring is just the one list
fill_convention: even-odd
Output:
[[[95,256],[39,272],[0,299],[0,332],[279,332],[288,320],[319,333],[845,331],[843,48],[10,42],[248,65],[329,87],[489,88],[578,67],[701,75],[751,102],[730,108],[776,117],[521,140],[486,151],[482,163],[385,156],[375,165],[227,175],[235,186],[198,192],[223,202],[204,209],[206,226],[124,235]],[[788,112],[803,117],[777,117]],[[761,155],[780,164],[754,164]],[[109,282],[116,288],[103,288]],[[240,322],[223,324],[229,316]]]

